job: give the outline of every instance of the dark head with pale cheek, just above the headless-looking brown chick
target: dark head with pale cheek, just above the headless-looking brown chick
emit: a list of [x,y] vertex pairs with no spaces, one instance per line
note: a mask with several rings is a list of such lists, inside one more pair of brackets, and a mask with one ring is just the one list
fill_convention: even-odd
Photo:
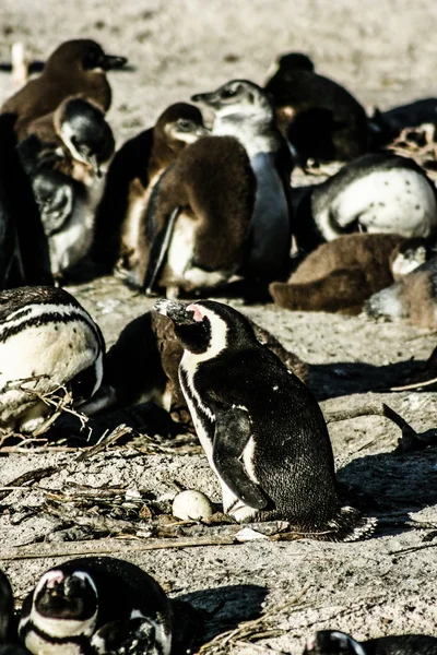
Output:
[[160,116],[153,133],[155,139],[165,140],[172,152],[178,153],[199,136],[210,134],[210,130],[204,127],[202,114],[197,107],[176,103]]

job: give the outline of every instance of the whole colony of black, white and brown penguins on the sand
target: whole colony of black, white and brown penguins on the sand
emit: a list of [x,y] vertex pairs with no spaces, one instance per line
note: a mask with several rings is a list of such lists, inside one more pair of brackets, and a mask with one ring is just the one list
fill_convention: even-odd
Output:
[[[197,298],[236,288],[287,310],[364,308],[435,326],[434,183],[383,150],[403,127],[390,112],[369,119],[295,52],[264,86],[238,79],[193,95],[212,110],[211,129],[179,102],[116,152],[106,73],[126,61],[95,41],[67,41],[1,107],[0,429],[38,429],[50,414],[44,397],[56,393],[88,415],[154,401],[197,433],[235,522],[370,537],[375,521],[339,498],[306,365],[238,311]],[[292,189],[294,166],[330,160],[344,165]],[[86,266],[165,297],[108,354],[59,288]],[[184,605],[133,564],[83,558],[47,571],[16,619],[0,572],[0,655],[188,653],[201,621]],[[358,643],[332,630],[305,653],[437,646],[424,635]]]

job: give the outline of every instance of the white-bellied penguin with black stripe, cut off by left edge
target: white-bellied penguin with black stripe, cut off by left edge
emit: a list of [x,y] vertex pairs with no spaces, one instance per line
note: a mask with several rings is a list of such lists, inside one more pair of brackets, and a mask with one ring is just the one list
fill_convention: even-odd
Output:
[[91,397],[102,382],[104,350],[98,326],[67,291],[0,293],[0,428],[33,431],[50,413],[40,395],[60,385],[76,405]]

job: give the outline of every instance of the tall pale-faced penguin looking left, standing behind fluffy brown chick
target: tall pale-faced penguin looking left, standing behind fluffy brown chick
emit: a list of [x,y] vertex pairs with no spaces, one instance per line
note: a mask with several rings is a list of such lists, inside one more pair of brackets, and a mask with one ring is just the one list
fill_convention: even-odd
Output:
[[214,111],[213,134],[238,139],[256,176],[256,204],[245,270],[255,277],[270,281],[286,275],[293,162],[277,130],[269,95],[252,82],[233,80],[212,93],[197,94],[191,99]]

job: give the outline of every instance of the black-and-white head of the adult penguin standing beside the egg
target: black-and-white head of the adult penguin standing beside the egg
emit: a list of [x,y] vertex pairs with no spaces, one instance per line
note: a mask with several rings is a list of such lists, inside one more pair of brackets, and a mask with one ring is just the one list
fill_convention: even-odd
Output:
[[184,349],[202,360],[216,357],[227,347],[236,349],[258,344],[249,321],[222,302],[158,300],[154,308],[174,322]]

